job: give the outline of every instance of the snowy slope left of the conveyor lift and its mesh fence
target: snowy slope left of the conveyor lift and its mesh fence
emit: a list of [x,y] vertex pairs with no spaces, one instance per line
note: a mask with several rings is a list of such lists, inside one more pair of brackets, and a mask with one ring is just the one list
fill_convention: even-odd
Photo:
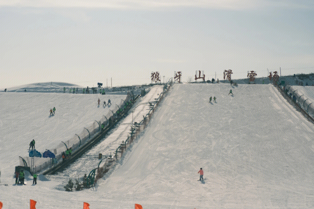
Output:
[[[19,156],[28,156],[27,149],[32,139],[35,139],[35,148],[41,153],[45,149],[53,151],[61,141],[66,142],[73,137],[77,139],[74,134],[80,134],[84,127],[98,128],[94,121],[103,119],[103,115],[109,114],[109,109],[117,108],[116,104],[119,105],[125,97],[0,92],[1,178],[12,176],[14,166],[19,165]],[[101,100],[100,107],[97,106],[98,98]],[[102,102],[107,102],[109,98],[111,107],[103,108]],[[56,112],[50,116],[49,110],[53,107],[56,107]]]

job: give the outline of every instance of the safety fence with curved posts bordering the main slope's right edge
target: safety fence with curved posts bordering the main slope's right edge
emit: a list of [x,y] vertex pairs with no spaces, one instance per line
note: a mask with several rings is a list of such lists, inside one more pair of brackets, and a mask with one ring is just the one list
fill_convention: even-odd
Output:
[[294,89],[293,86],[281,86],[278,82],[274,82],[273,85],[291,105],[294,105],[309,121],[314,123],[314,119],[311,116],[314,114],[314,107],[304,95],[299,95],[297,89]]

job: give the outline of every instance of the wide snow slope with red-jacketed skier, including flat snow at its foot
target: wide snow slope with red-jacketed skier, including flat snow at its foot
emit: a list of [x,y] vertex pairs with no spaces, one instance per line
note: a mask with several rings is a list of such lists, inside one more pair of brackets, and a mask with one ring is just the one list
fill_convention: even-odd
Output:
[[[217,102],[208,103],[210,96]],[[4,209],[27,208],[29,199],[38,208],[81,208],[83,201],[91,209],[313,208],[313,133],[272,85],[175,84],[95,188],[65,192],[54,181],[12,186],[12,179],[0,200]]]

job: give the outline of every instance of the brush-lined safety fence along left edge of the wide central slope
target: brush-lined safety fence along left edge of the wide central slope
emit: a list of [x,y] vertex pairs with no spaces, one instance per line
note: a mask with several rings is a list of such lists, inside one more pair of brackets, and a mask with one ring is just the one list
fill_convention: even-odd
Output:
[[170,87],[172,86],[172,78],[164,85],[163,92],[160,93],[159,97],[155,99],[154,103],[151,104],[149,112],[143,116],[143,119],[139,122],[132,124],[130,128],[130,136],[127,137],[125,141],[122,141],[120,146],[116,148],[114,155],[105,156],[99,164],[98,167],[93,169],[88,176],[88,184],[89,187],[94,185],[96,181],[102,178],[111,168],[115,165],[117,160],[121,159],[123,152],[127,149],[128,146],[133,142],[134,139],[137,138],[139,133],[141,133],[145,127],[148,125],[152,114],[160,104],[160,101],[165,97],[165,94],[169,91]]

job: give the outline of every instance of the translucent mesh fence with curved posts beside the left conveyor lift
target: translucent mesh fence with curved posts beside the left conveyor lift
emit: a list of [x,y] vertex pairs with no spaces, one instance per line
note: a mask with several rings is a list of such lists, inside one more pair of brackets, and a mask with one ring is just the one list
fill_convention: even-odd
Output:
[[[125,100],[119,102],[119,104],[113,104],[109,112],[105,115],[102,115],[99,120],[95,120],[90,123],[89,126],[82,128],[81,133],[73,134],[68,140],[62,141],[57,147],[52,148],[50,151],[55,154],[57,161],[60,162],[62,160],[62,153],[67,149],[72,148],[73,152],[76,149],[80,148],[82,145],[88,143],[97,133],[101,131],[101,125],[104,124],[106,128],[109,126],[111,121],[115,121],[119,112],[126,107],[126,104],[130,102],[131,98],[133,98],[133,92],[128,92]],[[39,158],[39,157],[19,157],[20,166],[28,166],[36,168],[36,172],[41,170],[45,170],[47,168],[51,168],[52,160],[50,158]],[[32,170],[31,170],[32,171]]]

